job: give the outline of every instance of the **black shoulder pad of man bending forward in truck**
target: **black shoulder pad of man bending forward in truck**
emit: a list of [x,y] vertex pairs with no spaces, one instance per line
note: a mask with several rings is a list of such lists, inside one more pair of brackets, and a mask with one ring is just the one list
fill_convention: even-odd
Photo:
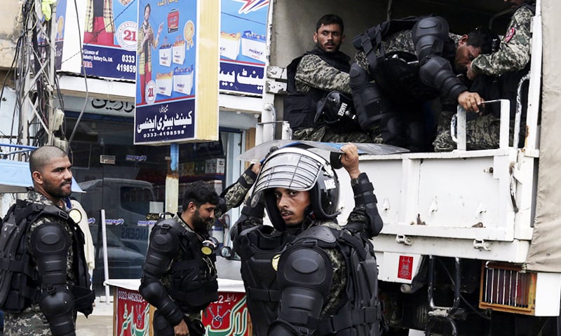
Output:
[[429,16],[419,20],[411,31],[419,63],[424,64],[428,55],[440,55],[448,39],[450,27],[440,16]]

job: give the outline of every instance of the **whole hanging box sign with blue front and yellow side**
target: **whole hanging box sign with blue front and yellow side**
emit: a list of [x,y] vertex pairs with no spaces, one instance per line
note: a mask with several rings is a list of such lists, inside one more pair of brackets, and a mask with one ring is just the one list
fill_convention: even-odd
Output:
[[137,1],[135,144],[217,139],[218,0]]

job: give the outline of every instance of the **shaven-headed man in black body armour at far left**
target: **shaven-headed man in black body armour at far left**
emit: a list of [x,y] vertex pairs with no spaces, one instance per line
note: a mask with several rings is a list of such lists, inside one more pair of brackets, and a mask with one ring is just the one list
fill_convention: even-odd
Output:
[[[63,211],[68,211],[65,199],[72,193],[71,167],[67,154],[60,148],[54,146],[37,148],[29,157],[33,188],[29,189],[27,200],[36,204],[54,205]],[[47,232],[47,235],[50,236],[48,243],[50,243],[53,253],[45,248],[46,244],[42,239],[34,238],[49,227],[55,227],[54,231]],[[38,233],[34,235],[34,232]],[[32,223],[27,234],[27,250],[32,254],[36,267],[39,269],[41,288],[37,290],[41,294],[39,302],[34,302],[22,313],[5,313],[4,335],[75,335],[76,310],[74,310],[74,300],[69,288],[72,288],[74,283],[78,283],[79,274],[76,274],[75,271],[79,267],[73,263],[75,262],[74,254],[79,251],[74,251],[73,246],[76,245],[61,242],[63,238],[66,238],[62,236],[67,236],[69,241],[72,241],[76,239],[74,235],[76,235],[76,231],[69,227],[68,221],[59,216],[40,216]],[[60,239],[53,241],[53,236]],[[54,251],[55,248],[62,252]],[[81,257],[83,258],[83,251],[81,251]],[[46,267],[47,265],[48,267]],[[58,269],[59,265],[61,268],[62,265],[66,265],[65,269]],[[82,271],[88,274],[85,259],[82,260],[81,265],[83,265]],[[65,281],[58,283],[62,279]],[[47,284],[46,281],[50,281],[50,283]]]

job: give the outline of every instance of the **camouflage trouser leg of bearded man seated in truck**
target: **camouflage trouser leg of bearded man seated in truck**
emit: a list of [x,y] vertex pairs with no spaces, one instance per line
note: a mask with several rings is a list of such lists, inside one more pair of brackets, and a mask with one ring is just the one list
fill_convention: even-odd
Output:
[[320,141],[320,142],[354,142],[365,144],[382,144],[383,140],[375,132],[349,132],[337,133],[330,127],[320,126],[296,130],[292,134],[294,140]]

